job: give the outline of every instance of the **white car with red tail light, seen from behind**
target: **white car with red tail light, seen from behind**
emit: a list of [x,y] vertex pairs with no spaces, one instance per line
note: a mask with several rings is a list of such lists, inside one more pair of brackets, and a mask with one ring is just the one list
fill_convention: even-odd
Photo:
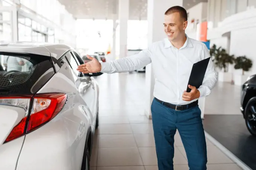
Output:
[[89,170],[100,74],[66,45],[2,44],[0,58],[0,170]]

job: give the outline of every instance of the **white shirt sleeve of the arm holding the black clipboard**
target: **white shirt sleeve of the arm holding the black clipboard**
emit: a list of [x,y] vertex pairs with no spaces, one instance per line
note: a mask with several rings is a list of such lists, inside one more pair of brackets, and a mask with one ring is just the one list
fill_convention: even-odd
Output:
[[[201,55],[203,59],[210,57],[210,52],[207,49],[205,44],[203,44],[203,50],[201,52]],[[211,93],[211,90],[215,86],[216,81],[217,81],[217,73],[214,70],[213,62],[210,59],[206,69],[205,76],[204,76],[203,84],[198,88],[198,90],[200,91],[200,98],[206,97]]]

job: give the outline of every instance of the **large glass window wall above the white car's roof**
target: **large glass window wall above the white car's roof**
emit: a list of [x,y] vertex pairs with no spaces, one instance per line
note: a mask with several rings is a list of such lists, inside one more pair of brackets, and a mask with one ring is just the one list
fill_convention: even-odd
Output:
[[5,6],[17,9],[19,42],[65,43],[76,48],[72,29],[76,19],[58,0],[0,0],[0,40],[11,41],[14,16],[12,11],[3,12]]

